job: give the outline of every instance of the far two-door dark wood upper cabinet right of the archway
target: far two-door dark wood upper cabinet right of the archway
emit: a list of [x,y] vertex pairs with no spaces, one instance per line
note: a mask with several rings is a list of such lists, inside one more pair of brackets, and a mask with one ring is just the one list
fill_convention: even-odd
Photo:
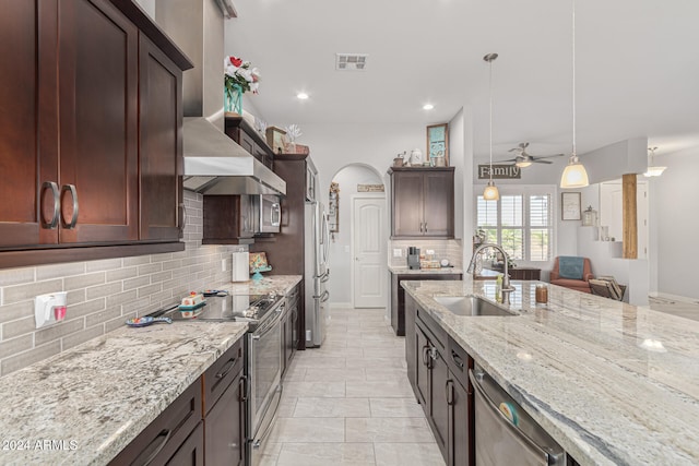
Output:
[[391,168],[392,238],[454,237],[454,168]]

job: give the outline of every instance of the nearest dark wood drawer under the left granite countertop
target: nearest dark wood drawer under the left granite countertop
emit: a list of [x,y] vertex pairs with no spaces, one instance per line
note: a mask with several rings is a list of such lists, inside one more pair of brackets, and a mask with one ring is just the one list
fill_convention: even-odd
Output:
[[109,464],[165,464],[201,421],[201,382],[197,379]]

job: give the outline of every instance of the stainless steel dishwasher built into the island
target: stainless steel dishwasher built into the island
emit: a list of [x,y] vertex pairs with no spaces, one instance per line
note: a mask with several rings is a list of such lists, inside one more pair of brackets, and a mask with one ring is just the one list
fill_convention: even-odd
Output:
[[566,452],[478,365],[474,386],[476,466],[566,465]]

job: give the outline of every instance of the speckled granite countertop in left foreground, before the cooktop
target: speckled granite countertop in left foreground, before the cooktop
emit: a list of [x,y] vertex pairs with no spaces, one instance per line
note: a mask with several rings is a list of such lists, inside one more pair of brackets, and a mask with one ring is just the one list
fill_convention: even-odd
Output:
[[108,463],[247,327],[123,326],[1,378],[0,464]]

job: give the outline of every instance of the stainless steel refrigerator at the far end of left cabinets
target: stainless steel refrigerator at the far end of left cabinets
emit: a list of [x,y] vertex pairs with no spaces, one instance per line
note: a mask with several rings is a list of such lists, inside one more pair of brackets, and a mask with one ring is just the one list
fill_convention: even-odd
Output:
[[329,319],[325,284],[330,278],[330,229],[320,202],[306,203],[305,218],[306,348],[313,348],[322,345]]

